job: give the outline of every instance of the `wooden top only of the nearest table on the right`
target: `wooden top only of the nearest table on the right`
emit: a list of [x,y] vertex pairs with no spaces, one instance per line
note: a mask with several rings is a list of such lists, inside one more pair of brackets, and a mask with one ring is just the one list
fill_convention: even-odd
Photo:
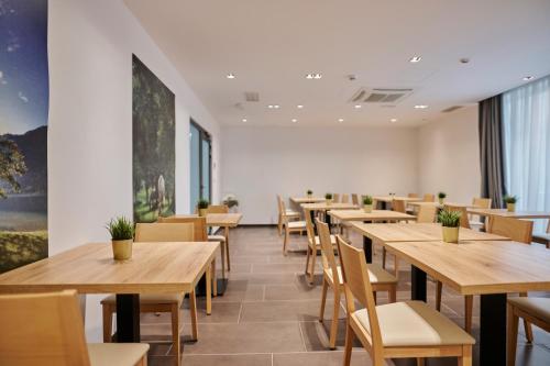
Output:
[[393,242],[386,249],[461,295],[550,290],[550,251],[510,241]]

